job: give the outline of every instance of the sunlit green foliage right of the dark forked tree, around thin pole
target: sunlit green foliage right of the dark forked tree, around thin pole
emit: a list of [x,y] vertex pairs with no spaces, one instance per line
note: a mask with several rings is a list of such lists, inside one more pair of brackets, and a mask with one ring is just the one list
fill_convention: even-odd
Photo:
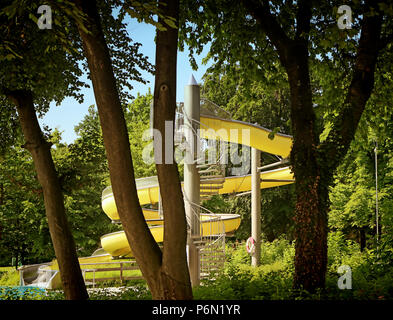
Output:
[[[385,65],[387,67],[387,65]],[[389,66],[390,68],[391,66]],[[383,233],[392,232],[392,156],[393,113],[377,104],[390,96],[385,90],[389,83],[376,78],[376,92],[356,132],[347,156],[337,170],[334,187],[330,192],[331,212],[329,225],[332,229],[359,232],[369,236],[375,233],[375,141],[378,141],[378,194],[380,224]]]

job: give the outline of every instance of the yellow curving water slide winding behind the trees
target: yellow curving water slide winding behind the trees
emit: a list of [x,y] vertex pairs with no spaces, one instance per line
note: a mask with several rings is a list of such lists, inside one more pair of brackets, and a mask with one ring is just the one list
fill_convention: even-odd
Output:
[[[219,138],[232,143],[244,144],[259,149],[264,152],[279,155],[283,158],[289,156],[292,138],[283,134],[275,134],[274,139],[269,138],[270,130],[258,125],[227,120],[211,116],[201,116],[200,118],[201,137],[205,139]],[[213,129],[213,130],[211,130]],[[246,136],[242,131],[249,130]],[[236,130],[237,134],[231,134],[231,130]],[[232,131],[234,132],[234,131]],[[272,188],[293,182],[293,174],[289,167],[261,173],[261,189]],[[263,181],[267,180],[267,181]],[[273,181],[278,180],[278,181]],[[140,204],[154,204],[159,201],[159,186],[157,177],[141,178],[136,180],[138,197]],[[223,187],[219,190],[220,194],[233,194],[251,190],[251,175],[226,177]],[[102,208],[112,220],[119,220],[116,204],[111,187],[106,188],[102,193]],[[143,214],[150,231],[157,242],[163,241],[163,221],[159,217],[157,210],[143,209]],[[220,214],[221,221],[224,223],[225,232],[235,231],[240,225],[240,216],[235,214]],[[201,215],[201,233],[204,236],[214,234],[218,228],[217,215]],[[222,223],[220,222],[220,223]],[[209,224],[209,228],[204,225]],[[213,226],[213,227],[212,227]],[[132,255],[130,246],[124,231],[106,234],[101,237],[101,246],[111,256],[130,256]]]

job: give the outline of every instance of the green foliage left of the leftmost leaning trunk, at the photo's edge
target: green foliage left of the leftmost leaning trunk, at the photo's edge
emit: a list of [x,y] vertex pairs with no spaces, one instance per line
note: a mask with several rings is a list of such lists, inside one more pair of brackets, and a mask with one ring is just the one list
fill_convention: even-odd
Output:
[[0,159],[0,198],[0,263],[17,255],[31,263],[51,260],[41,188],[30,155],[21,147],[9,148]]

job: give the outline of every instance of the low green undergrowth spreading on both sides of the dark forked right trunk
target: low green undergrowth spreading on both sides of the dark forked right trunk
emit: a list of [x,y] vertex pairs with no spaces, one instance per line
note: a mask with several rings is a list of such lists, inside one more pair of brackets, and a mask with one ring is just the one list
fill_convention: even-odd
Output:
[[[360,251],[359,245],[340,233],[329,234],[326,288],[310,294],[292,289],[294,243],[278,239],[263,242],[261,265],[250,266],[244,243],[227,249],[228,263],[215,280],[205,280],[194,289],[195,299],[264,300],[381,300],[393,298],[393,266],[381,261],[381,250]],[[389,249],[390,250],[390,249]],[[352,289],[340,290],[338,267],[352,271]]]

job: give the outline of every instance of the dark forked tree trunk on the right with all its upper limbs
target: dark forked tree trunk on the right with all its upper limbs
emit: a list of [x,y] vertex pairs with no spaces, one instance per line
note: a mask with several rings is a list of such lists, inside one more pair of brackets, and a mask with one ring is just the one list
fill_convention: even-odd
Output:
[[[374,84],[383,15],[373,1],[365,2],[356,63],[340,116],[328,137],[319,143],[308,67],[311,2],[299,1],[296,35],[291,39],[270,12],[269,4],[243,0],[275,46],[285,67],[291,91],[293,147],[291,163],[296,179],[296,255],[294,288],[315,292],[325,287],[329,185],[355,135]],[[375,6],[374,8],[371,8]]]

